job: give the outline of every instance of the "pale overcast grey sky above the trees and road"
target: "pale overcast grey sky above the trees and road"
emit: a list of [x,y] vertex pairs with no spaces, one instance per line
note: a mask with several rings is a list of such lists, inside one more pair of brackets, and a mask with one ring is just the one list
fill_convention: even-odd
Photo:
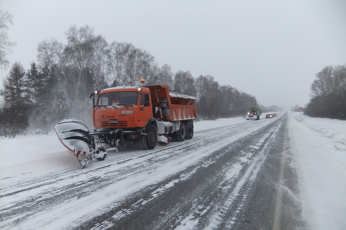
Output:
[[304,106],[315,74],[346,63],[345,0],[1,0],[0,9],[13,16],[11,64],[30,69],[40,41],[66,43],[71,25],[88,25],[108,43],[131,42],[159,66],[209,74],[266,107]]

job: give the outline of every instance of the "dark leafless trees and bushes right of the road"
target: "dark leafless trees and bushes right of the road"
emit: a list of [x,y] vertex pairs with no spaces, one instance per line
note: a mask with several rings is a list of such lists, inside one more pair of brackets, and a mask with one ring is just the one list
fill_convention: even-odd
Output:
[[346,64],[323,68],[316,73],[310,89],[311,100],[304,114],[346,120]]

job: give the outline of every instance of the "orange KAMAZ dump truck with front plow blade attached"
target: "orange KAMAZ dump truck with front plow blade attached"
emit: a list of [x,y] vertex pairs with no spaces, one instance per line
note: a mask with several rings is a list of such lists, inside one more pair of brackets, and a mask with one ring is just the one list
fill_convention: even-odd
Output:
[[119,86],[95,90],[90,98],[94,132],[75,118],[65,118],[54,127],[82,167],[89,160],[104,160],[107,150],[121,150],[126,142],[141,142],[144,149],[153,149],[158,139],[184,141],[193,136],[197,98],[169,92],[168,86]]

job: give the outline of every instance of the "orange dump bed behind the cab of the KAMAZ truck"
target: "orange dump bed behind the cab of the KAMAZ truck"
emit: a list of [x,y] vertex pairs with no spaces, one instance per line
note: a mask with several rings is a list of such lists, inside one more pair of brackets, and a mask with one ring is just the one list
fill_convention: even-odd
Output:
[[169,92],[168,86],[145,86],[152,94],[153,108],[158,107],[158,119],[181,121],[197,118],[197,98],[178,92]]

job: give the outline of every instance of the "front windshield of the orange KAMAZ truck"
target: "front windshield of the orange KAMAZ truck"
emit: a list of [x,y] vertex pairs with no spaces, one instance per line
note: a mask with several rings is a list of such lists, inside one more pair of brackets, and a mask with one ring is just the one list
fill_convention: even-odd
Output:
[[133,103],[137,105],[138,92],[125,91],[125,92],[112,92],[99,94],[97,101],[98,106],[130,106]]

